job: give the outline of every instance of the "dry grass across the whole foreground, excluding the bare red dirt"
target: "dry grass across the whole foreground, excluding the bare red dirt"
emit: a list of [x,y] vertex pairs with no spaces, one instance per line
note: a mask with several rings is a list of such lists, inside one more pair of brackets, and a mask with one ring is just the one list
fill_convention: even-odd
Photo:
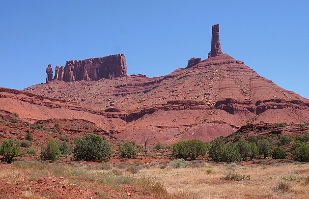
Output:
[[[274,165],[242,165],[205,163],[198,168],[173,169],[167,167],[143,167],[137,174],[123,168],[123,174],[101,170],[89,165],[45,164],[44,162],[14,163],[0,170],[0,180],[8,184],[27,184],[40,176],[68,177],[70,183],[101,191],[109,187],[124,192],[122,185],[136,187],[151,198],[176,199],[307,199],[309,164],[283,163]],[[210,174],[206,170],[212,170]],[[250,180],[226,181],[220,179],[228,171],[250,175]],[[276,192],[273,188],[280,182],[291,184],[289,192]],[[107,189],[107,190],[109,190]],[[102,192],[109,198],[110,193]],[[99,194],[98,194],[99,196]],[[39,198],[30,190],[24,190],[21,198]]]

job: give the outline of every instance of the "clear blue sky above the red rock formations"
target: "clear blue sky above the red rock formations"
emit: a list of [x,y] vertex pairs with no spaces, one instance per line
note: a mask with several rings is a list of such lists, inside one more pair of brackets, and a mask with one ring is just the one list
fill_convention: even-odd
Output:
[[128,74],[167,75],[223,52],[309,98],[307,0],[2,0],[0,86],[45,82],[49,63],[124,53]]

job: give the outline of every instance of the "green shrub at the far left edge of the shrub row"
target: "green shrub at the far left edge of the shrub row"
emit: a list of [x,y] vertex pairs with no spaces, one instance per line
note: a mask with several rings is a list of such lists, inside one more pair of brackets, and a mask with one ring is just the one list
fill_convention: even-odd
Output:
[[19,155],[20,143],[14,139],[4,140],[0,145],[0,155],[3,156],[2,161],[12,163],[15,156]]

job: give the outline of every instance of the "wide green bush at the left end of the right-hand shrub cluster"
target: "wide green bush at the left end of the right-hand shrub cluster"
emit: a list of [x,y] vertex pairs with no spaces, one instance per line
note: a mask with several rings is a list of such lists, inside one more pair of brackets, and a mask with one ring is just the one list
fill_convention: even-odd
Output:
[[207,153],[207,146],[200,140],[180,141],[173,146],[173,156],[176,158],[195,160],[199,155]]

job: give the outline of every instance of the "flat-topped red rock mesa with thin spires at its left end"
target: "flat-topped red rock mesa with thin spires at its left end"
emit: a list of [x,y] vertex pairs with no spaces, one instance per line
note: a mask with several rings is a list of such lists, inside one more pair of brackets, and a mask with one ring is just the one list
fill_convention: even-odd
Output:
[[[124,54],[117,54],[107,57],[67,61],[65,67],[61,66],[59,68],[59,66],[56,66],[54,80],[64,82],[91,81],[125,76],[127,76],[126,57]],[[49,79],[46,79],[46,83],[53,80],[50,80],[49,73],[47,73],[47,77]]]

